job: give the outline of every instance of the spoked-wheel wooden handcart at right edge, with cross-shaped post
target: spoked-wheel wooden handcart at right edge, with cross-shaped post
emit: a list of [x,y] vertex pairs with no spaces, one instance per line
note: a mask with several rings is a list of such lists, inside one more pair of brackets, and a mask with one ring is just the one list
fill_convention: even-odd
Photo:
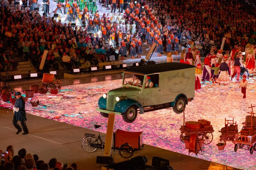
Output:
[[[234,151],[236,152],[238,149],[249,150],[250,154],[253,154],[253,151],[256,151],[256,117],[254,116],[252,108],[250,116],[246,116],[246,121],[243,123],[244,127],[240,132],[238,132],[235,136],[233,143],[235,144]],[[250,119],[249,119],[250,117]]]

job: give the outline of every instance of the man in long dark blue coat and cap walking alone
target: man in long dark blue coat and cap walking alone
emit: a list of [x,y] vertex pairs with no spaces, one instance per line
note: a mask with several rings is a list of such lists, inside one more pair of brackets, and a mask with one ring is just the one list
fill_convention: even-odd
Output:
[[15,126],[15,128],[18,129],[16,134],[19,134],[21,132],[21,127],[17,123],[18,121],[20,121],[22,129],[24,131],[24,133],[22,134],[28,134],[28,128],[25,122],[27,120],[26,111],[25,111],[25,101],[22,99],[20,92],[16,92],[15,95],[16,95],[16,102],[13,107],[14,116],[13,116],[12,123]]

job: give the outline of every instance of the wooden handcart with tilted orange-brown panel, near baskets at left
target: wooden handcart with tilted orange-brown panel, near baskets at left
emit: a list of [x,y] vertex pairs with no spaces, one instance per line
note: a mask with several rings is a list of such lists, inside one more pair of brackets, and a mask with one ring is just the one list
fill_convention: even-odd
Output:
[[61,80],[54,80],[54,74],[44,73],[42,86],[45,86],[47,90],[51,91],[52,89],[58,89],[58,91],[60,92],[61,84]]

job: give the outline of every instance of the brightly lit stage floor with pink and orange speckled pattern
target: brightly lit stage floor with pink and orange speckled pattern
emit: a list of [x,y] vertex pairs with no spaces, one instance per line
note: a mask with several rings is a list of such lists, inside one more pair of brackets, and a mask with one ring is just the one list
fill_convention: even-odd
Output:
[[[234,144],[227,142],[223,151],[217,149],[219,130],[225,125],[225,118],[238,123],[238,130],[242,122],[249,115],[251,104],[255,105],[256,78],[249,79],[246,99],[240,92],[239,82],[231,81],[227,86],[219,86],[210,82],[202,83],[202,89],[195,92],[195,98],[186,106],[185,121],[205,119],[211,121],[214,128],[213,141],[205,145],[205,151],[195,156],[200,159],[225,164],[239,169],[256,169],[255,153],[248,150],[234,152]],[[53,119],[78,127],[94,129],[94,124],[102,125],[101,132],[106,132],[107,118],[103,118],[95,110],[98,99],[110,89],[120,87],[121,80],[107,80],[87,84],[62,87],[58,94],[35,94],[40,105],[32,107],[30,100],[26,102],[29,114]],[[11,109],[9,103],[1,102],[1,107]],[[121,116],[116,116],[116,128],[126,131],[143,131],[145,144],[179,152],[188,155],[184,143],[180,141],[180,127],[183,124],[183,114],[176,114],[172,109],[139,114],[135,122],[126,123]]]

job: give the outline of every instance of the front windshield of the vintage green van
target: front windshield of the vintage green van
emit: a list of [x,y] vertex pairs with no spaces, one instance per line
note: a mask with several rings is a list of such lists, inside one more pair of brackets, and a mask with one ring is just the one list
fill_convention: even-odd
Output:
[[144,75],[124,72],[123,85],[142,87]]

